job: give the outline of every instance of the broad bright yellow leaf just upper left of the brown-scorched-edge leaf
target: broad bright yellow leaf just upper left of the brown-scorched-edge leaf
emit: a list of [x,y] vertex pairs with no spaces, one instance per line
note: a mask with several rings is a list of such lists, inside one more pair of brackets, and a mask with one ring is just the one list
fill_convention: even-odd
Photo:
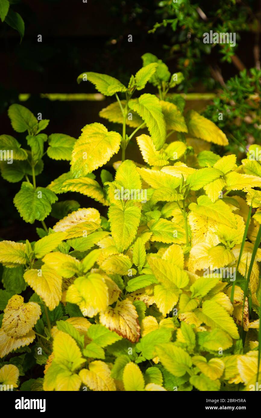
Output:
[[108,287],[100,274],[78,277],[68,288],[66,300],[76,303],[84,316],[92,318],[106,310],[109,303]]

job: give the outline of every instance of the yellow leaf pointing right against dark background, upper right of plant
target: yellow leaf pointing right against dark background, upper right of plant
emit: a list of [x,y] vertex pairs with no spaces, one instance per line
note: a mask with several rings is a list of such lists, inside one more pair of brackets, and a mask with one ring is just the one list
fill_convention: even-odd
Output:
[[211,122],[211,120],[199,115],[194,110],[189,110],[186,114],[186,124],[189,135],[217,145],[228,145],[228,140],[224,132]]

